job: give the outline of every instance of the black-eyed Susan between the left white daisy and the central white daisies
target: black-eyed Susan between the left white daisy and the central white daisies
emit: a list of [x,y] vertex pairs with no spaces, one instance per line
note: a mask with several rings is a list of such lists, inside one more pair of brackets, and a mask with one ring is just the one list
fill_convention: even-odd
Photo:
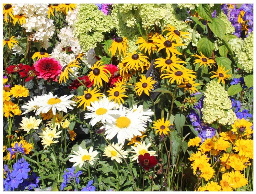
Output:
[[99,90],[96,90],[96,88],[94,88],[91,91],[91,88],[89,88],[87,91],[84,91],[84,95],[82,96],[77,96],[77,98],[79,99],[77,102],[80,102],[80,104],[77,106],[80,107],[81,105],[84,105],[84,110],[86,108],[86,106],[90,106],[91,102],[95,102],[95,101],[99,101],[99,97],[102,96],[102,93],[98,93]]

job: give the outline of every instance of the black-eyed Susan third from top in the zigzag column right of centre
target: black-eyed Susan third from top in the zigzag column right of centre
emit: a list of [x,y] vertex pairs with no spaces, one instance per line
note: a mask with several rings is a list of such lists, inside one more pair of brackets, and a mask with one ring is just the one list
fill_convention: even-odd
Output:
[[163,70],[172,70],[174,71],[175,68],[177,69],[185,69],[183,65],[180,65],[179,63],[186,63],[185,61],[181,60],[180,58],[177,58],[176,55],[172,55],[171,57],[164,58],[158,58],[155,60],[156,68],[160,67],[160,71],[163,72]]

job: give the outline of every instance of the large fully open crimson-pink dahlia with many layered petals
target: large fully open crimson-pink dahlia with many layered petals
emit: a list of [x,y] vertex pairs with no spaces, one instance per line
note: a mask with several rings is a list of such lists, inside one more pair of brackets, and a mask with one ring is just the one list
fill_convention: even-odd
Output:
[[59,61],[48,57],[36,61],[34,67],[37,78],[43,78],[47,81],[58,81],[57,77],[60,76],[62,70],[62,66]]

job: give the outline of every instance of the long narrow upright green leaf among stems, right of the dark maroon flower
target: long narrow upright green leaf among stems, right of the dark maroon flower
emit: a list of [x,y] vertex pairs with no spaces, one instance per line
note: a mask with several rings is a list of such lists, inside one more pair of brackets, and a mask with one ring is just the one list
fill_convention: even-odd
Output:
[[178,153],[181,146],[181,137],[178,135],[177,131],[171,132],[171,162],[172,164],[176,163]]

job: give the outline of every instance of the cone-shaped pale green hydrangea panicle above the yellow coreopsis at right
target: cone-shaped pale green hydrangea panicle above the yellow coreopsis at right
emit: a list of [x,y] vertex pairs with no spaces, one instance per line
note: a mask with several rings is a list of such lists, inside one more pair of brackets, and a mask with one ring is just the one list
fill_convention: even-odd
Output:
[[204,87],[204,104],[202,119],[205,123],[217,122],[222,125],[234,123],[237,116],[232,108],[227,91],[218,82],[212,80]]

